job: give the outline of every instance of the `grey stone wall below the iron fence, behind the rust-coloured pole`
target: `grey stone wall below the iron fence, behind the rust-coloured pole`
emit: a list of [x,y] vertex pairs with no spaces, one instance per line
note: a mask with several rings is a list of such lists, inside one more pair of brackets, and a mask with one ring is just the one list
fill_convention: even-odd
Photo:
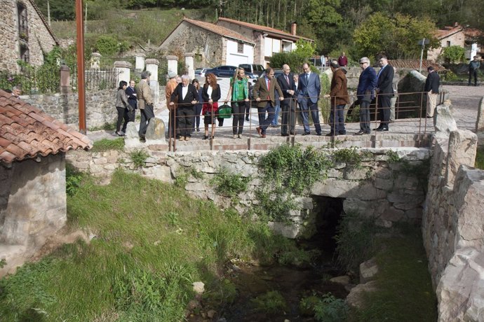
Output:
[[[22,99],[46,112],[49,116],[74,128],[79,126],[79,94],[32,94],[22,95]],[[114,123],[118,114],[114,103],[116,90],[86,91],[86,124],[88,129]],[[166,106],[165,87],[160,88],[160,102],[155,106],[159,111]],[[139,115],[139,111],[136,112]]]

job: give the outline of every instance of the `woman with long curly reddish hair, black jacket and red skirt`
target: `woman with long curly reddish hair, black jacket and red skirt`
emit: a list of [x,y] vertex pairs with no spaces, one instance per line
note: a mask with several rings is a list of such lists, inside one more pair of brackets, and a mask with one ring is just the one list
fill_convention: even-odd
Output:
[[202,98],[202,114],[203,124],[205,125],[204,140],[208,139],[208,125],[212,125],[211,138],[215,137],[215,121],[217,120],[218,100],[220,99],[220,86],[217,85],[217,77],[213,73],[208,73],[205,76],[205,84],[203,84]]

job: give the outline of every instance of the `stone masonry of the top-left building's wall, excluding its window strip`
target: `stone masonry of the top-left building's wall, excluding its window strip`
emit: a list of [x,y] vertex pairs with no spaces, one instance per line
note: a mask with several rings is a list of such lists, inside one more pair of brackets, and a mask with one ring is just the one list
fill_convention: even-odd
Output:
[[29,63],[34,66],[43,64],[43,52],[50,52],[55,40],[30,1],[0,1],[0,37],[4,40],[0,48],[0,70],[18,72],[17,60],[20,58],[17,3],[27,8]]

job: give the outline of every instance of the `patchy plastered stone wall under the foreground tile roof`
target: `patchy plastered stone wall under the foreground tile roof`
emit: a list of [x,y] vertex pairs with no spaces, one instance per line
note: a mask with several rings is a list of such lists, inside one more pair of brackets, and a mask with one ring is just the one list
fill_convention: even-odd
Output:
[[0,276],[21,265],[67,221],[65,155],[0,166]]

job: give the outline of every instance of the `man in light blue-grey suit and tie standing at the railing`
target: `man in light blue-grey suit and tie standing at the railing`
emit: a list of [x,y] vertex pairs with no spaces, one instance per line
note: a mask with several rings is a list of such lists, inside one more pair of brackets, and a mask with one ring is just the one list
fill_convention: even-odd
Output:
[[299,83],[297,84],[297,91],[302,96],[300,104],[302,124],[304,125],[304,133],[302,135],[311,134],[309,130],[309,111],[311,111],[311,118],[313,118],[316,135],[321,135],[318,109],[321,81],[316,73],[311,73],[309,64],[304,63],[302,69],[304,73],[300,74]]

